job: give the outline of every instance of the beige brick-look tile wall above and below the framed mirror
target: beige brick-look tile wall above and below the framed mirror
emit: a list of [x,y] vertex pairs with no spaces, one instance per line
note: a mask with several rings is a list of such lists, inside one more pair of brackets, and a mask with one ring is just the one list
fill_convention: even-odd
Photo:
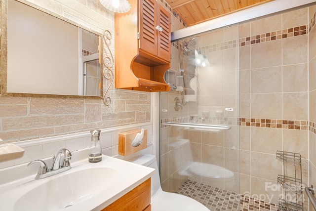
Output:
[[[33,2],[33,1],[32,1]],[[96,32],[114,34],[114,13],[99,1],[36,1],[38,6]],[[110,45],[114,54],[114,41]],[[108,82],[104,82],[107,87]],[[0,97],[0,137],[23,141],[67,133],[151,121],[151,94],[115,89],[105,106],[102,100],[41,97]]]

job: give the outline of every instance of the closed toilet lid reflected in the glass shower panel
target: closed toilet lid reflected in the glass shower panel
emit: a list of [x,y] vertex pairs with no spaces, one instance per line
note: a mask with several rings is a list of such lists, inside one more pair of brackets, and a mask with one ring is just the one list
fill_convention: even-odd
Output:
[[188,167],[190,173],[206,178],[228,179],[234,177],[234,172],[212,164],[194,162]]

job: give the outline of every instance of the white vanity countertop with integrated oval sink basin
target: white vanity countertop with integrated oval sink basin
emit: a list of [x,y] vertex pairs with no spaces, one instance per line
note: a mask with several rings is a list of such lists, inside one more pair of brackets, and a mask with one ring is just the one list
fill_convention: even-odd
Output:
[[[34,179],[35,170],[33,175],[1,184],[0,210],[99,211],[150,178],[155,170],[108,156],[99,163],[85,158],[71,166],[47,178]],[[26,165],[14,168],[19,169],[0,169],[0,178],[30,170]]]

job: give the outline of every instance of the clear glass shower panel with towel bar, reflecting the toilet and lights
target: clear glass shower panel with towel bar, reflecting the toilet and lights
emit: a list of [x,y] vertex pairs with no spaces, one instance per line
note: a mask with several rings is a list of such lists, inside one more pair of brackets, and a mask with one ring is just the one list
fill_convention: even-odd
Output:
[[172,46],[171,91],[159,95],[162,189],[195,182],[238,194],[238,25]]

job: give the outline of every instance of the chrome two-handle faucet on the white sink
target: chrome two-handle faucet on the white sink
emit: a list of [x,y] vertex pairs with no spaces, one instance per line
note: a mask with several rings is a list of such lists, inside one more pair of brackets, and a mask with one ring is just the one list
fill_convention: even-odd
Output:
[[[62,159],[62,161],[60,161],[62,155],[64,155],[64,158]],[[69,160],[71,160],[71,157],[71,152],[68,149],[63,148],[57,152],[56,156],[53,156],[53,164],[50,169],[48,169],[46,163],[41,160],[31,161],[28,166],[34,163],[40,163],[40,169],[35,178],[42,179],[71,169],[69,162]]]

